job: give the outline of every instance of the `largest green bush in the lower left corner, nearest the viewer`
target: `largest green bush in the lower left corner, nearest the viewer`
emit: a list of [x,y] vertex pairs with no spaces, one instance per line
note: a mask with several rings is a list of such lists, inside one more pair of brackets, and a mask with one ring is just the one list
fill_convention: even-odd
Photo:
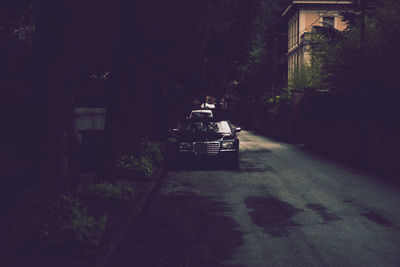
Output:
[[77,198],[60,195],[42,200],[31,195],[21,202],[10,226],[19,246],[87,257],[99,246],[106,221],[106,216],[99,219],[88,216]]

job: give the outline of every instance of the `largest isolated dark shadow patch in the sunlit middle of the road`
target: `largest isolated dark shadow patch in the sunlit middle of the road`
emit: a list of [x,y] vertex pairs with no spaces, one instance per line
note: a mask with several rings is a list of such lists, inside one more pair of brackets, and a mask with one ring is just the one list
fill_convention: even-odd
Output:
[[261,226],[273,237],[287,236],[292,227],[300,226],[292,218],[302,211],[273,197],[250,196],[245,199],[254,224]]

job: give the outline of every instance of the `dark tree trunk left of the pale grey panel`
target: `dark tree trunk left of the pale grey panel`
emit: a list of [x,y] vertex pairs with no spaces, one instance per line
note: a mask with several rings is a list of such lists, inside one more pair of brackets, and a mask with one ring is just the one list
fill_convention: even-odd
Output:
[[68,9],[65,0],[35,2],[38,178],[45,195],[65,192],[72,102],[66,91]]

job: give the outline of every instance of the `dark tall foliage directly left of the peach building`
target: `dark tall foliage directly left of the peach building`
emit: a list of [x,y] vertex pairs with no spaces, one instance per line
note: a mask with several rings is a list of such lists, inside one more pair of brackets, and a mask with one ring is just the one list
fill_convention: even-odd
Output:
[[288,1],[261,1],[254,14],[254,33],[247,61],[239,71],[238,95],[259,99],[276,94],[286,79],[287,21],[282,17]]

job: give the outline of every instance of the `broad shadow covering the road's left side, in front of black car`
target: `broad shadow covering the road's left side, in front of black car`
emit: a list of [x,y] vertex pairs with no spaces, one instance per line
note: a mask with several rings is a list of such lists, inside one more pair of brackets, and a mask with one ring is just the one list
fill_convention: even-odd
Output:
[[243,233],[229,211],[192,193],[153,194],[109,266],[231,266]]

